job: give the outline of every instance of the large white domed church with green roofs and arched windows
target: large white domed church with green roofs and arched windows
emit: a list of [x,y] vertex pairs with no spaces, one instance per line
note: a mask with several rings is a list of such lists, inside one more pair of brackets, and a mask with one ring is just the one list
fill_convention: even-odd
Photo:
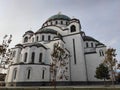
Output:
[[96,67],[104,60],[106,46],[85,35],[79,19],[59,13],[48,18],[36,32],[26,31],[22,42],[12,48],[6,85],[50,85],[51,53],[54,43],[58,42],[70,55],[68,79],[56,77],[58,85],[100,81],[94,75]]

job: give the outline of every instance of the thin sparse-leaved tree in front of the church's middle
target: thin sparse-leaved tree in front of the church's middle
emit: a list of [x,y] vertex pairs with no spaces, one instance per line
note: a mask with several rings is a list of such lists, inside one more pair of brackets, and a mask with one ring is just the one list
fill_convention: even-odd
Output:
[[69,53],[64,48],[62,48],[59,43],[55,43],[51,57],[51,81],[52,85],[54,85],[54,89],[56,89],[57,78],[62,80],[69,79],[69,76],[67,74]]

